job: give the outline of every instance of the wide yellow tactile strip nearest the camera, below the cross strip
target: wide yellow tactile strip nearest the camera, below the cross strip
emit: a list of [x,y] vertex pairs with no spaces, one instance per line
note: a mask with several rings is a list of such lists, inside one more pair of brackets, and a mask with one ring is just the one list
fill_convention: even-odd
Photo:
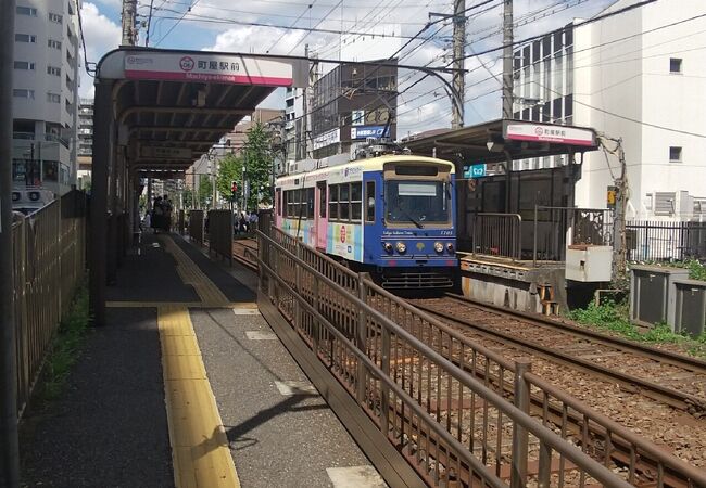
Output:
[[176,487],[239,488],[189,310],[160,306],[157,328]]

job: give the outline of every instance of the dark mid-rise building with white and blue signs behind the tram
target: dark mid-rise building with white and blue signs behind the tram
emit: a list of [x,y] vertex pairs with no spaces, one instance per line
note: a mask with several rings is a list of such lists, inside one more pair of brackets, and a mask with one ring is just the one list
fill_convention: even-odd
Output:
[[[396,64],[395,60],[381,63]],[[341,64],[314,84],[310,140],[313,157],[354,151],[368,138],[396,138],[398,68]]]

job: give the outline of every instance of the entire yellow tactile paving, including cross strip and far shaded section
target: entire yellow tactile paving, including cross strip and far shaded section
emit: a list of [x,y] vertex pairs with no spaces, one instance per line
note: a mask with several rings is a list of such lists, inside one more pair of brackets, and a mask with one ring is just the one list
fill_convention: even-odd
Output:
[[256,309],[254,303],[230,303],[171,239],[161,240],[177,261],[177,272],[197,291],[202,301],[109,301],[108,307],[156,308],[162,374],[177,488],[239,488],[189,308]]

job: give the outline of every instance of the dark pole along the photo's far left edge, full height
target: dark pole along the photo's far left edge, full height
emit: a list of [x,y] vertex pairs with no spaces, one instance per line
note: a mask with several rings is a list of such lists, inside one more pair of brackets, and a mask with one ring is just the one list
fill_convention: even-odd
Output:
[[[0,9],[0,487],[20,486],[12,248],[12,66],[15,0]],[[24,286],[24,284],[23,284]]]

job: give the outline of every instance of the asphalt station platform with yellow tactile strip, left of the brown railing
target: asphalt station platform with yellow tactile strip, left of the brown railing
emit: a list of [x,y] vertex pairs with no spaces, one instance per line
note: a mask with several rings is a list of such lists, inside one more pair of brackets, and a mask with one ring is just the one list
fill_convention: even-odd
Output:
[[23,486],[386,486],[260,314],[256,283],[143,234],[61,397],[25,414]]

